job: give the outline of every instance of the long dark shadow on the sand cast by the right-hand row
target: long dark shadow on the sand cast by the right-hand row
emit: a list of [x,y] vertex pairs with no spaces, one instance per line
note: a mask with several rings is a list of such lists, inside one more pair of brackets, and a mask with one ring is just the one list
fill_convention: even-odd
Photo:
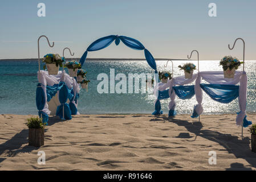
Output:
[[[186,130],[196,135],[194,140],[196,140],[197,137],[203,137],[205,139],[216,142],[226,148],[229,154],[234,154],[236,158],[245,159],[250,164],[250,166],[243,166],[241,163],[232,163],[230,168],[227,168],[226,170],[251,170],[250,167],[256,167],[256,154],[251,151],[249,137],[245,137],[242,140],[241,137],[237,137],[231,134],[223,134],[218,131],[203,130],[201,122],[192,123],[185,120],[164,116],[156,116],[155,118],[151,119],[151,121],[168,121],[175,123],[178,126],[184,126]],[[189,135],[182,133],[177,136],[177,138],[189,138]],[[190,142],[193,142],[194,140],[191,140]]]

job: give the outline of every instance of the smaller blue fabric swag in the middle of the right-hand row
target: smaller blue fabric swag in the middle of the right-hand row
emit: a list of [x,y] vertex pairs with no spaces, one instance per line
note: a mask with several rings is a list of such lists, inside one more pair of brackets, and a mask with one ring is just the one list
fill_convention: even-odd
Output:
[[178,98],[181,98],[182,100],[189,99],[194,96],[194,85],[173,86],[173,89]]

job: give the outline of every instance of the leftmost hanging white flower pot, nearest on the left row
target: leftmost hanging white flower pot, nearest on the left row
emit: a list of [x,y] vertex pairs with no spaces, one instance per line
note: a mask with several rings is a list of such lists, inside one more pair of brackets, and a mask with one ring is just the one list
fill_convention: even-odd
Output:
[[62,63],[64,61],[64,57],[60,57],[58,53],[48,53],[47,55],[43,56],[43,62],[46,63],[43,68],[47,68],[49,75],[58,75],[59,67],[62,67]]

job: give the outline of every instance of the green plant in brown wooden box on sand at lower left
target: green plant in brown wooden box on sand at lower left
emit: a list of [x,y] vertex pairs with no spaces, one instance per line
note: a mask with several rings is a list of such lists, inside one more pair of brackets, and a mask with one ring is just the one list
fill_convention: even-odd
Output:
[[26,123],[29,127],[29,145],[40,147],[44,145],[44,127],[45,123],[42,122],[42,118],[29,118]]

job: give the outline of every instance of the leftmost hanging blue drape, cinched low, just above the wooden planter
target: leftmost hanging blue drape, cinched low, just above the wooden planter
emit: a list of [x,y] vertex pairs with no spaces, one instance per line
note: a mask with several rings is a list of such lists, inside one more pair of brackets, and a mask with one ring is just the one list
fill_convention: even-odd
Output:
[[44,91],[43,91],[43,88],[41,87],[41,84],[38,84],[36,87],[35,102],[36,102],[36,107],[39,110],[38,111],[39,117],[40,118],[42,117],[43,123],[46,123],[46,125],[48,125],[48,114],[42,111],[44,108],[44,104],[46,102],[46,98],[44,96]]

